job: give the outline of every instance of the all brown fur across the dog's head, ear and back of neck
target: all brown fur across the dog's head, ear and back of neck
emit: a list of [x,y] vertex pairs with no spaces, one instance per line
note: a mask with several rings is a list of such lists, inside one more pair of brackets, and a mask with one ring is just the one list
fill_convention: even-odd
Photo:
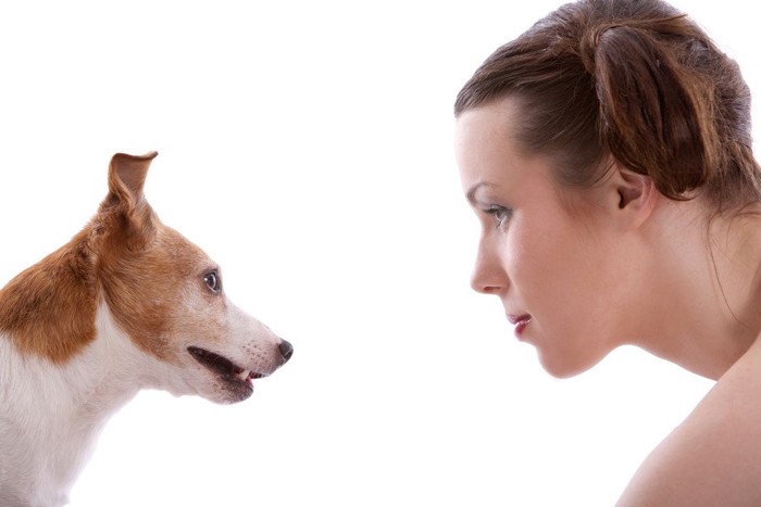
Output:
[[182,282],[196,275],[186,271],[208,261],[164,227],[145,200],[154,156],[114,155],[109,194],[91,223],[0,290],[0,330],[23,353],[63,363],[82,351],[95,338],[102,294],[139,346],[166,355],[161,337],[172,304],[180,301]]

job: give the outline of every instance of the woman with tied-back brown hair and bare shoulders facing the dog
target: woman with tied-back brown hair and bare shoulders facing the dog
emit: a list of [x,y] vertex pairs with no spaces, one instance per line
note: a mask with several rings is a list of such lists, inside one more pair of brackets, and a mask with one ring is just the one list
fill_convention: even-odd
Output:
[[473,288],[557,377],[636,344],[718,382],[621,506],[761,505],[761,168],[737,65],[658,0],[581,0],[460,91]]

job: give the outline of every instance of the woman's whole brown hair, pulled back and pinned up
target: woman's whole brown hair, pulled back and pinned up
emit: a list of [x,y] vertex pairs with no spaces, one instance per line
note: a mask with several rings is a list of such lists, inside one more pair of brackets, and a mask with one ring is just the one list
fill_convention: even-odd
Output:
[[521,149],[589,187],[609,155],[674,200],[718,211],[761,201],[750,92],[739,67],[660,0],[581,0],[502,46],[458,94],[456,115],[511,97]]

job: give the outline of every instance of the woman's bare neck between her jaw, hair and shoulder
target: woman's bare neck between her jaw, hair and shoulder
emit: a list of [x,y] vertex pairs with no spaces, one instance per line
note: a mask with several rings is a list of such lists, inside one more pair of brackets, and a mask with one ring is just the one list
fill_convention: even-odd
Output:
[[719,379],[761,330],[761,206],[712,217],[699,199],[664,199],[645,233],[656,245],[641,293],[650,317],[634,343]]

